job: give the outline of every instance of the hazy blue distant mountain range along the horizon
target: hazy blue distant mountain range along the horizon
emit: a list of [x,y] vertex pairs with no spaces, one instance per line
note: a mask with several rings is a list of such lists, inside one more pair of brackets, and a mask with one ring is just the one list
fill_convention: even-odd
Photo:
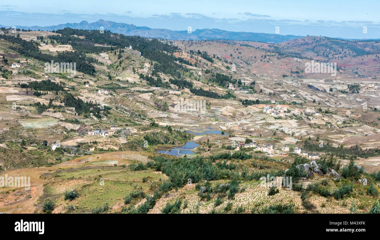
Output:
[[[3,26],[0,27],[12,27]],[[302,36],[295,35],[279,35],[279,34],[269,34],[269,33],[252,33],[252,32],[230,32],[220,29],[196,29],[191,33],[187,30],[184,31],[173,31],[163,28],[149,28],[149,27],[138,27],[133,24],[117,23],[112,21],[104,21],[100,19],[97,22],[87,22],[82,21],[79,23],[67,23],[59,24],[53,26],[16,26],[21,29],[30,30],[44,30],[52,31],[63,29],[65,27],[77,28],[77,29],[89,29],[89,30],[100,30],[100,27],[104,27],[105,30],[110,30],[113,33],[122,33],[124,35],[139,35],[146,38],[163,38],[169,40],[207,40],[207,39],[226,39],[226,40],[237,40],[237,41],[256,41],[264,43],[282,43],[292,39],[301,38]]]

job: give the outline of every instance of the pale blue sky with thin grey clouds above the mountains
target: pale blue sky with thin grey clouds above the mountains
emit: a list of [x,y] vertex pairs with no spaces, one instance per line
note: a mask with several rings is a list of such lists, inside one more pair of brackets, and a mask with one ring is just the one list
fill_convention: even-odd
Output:
[[103,19],[170,30],[190,26],[193,31],[218,28],[368,39],[380,38],[379,9],[379,0],[0,0],[0,25],[50,26]]

